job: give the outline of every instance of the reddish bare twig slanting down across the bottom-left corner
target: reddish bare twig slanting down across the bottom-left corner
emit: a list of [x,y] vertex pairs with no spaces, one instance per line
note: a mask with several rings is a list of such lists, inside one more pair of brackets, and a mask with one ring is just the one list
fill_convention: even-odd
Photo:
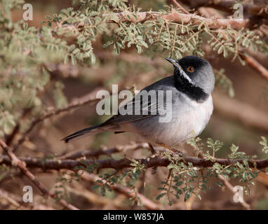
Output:
[[[1,139],[0,139],[0,146],[8,154],[8,157],[11,160],[11,164],[14,167],[18,167],[22,171],[22,173],[25,174],[29,178],[29,180],[32,181],[37,188],[39,188],[39,190],[41,190],[41,192],[44,195],[48,195],[49,197],[52,197],[55,200],[57,200],[57,195],[55,195],[54,193],[52,193],[51,191],[49,191],[46,188],[46,186],[44,186],[43,183],[41,183],[36,178],[36,176],[34,176],[34,174],[32,174],[31,172],[29,172],[29,170],[27,169],[27,167],[25,165],[25,162],[22,162],[22,160],[18,159],[17,156],[11,151],[11,148],[9,148],[8,146],[6,146],[6,144],[4,143],[4,141],[2,141]],[[60,199],[59,202],[60,202],[60,204],[62,204],[67,209],[78,210],[72,204],[69,204],[68,202],[66,202],[63,199]]]

